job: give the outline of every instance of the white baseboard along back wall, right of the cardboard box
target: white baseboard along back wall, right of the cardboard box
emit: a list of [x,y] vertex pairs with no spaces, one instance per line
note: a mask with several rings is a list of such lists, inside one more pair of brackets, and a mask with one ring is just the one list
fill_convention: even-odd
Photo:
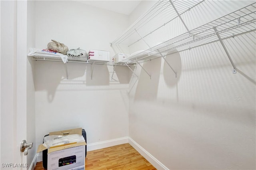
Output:
[[87,151],[107,148],[107,147],[110,147],[110,146],[116,146],[116,145],[125,144],[125,143],[128,143],[128,137],[117,138],[117,139],[113,139],[113,140],[106,140],[106,141],[103,141],[103,142],[88,144],[87,145]]

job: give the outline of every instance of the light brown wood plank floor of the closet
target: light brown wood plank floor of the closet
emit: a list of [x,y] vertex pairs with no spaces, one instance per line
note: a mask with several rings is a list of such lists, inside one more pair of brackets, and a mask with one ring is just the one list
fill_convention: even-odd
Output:
[[[130,144],[121,144],[87,152],[86,170],[156,170]],[[37,162],[34,170],[44,170]]]

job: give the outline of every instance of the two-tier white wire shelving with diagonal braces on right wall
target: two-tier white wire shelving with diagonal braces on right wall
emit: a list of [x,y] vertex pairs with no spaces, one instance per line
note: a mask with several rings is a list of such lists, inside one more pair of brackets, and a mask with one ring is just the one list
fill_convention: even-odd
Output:
[[[223,43],[223,40],[256,31],[256,2],[231,12],[230,14],[222,16],[216,20],[208,22],[207,24],[194,28],[193,30],[189,30],[181,15],[202,2],[204,2],[204,0],[158,1],[152,8],[150,8],[150,10],[148,10],[136,22],[134,22],[134,24],[132,24],[124,32],[124,34],[114,40],[114,42],[110,43],[110,45],[112,45],[112,47],[123,45],[122,43],[124,43],[130,36],[135,33],[140,36],[140,39],[130,43],[129,45],[133,45],[140,40],[143,40],[146,45],[148,45],[148,43],[144,40],[146,36],[150,35],[152,32],[158,30],[162,26],[165,26],[166,23],[174,20],[175,18],[180,18],[182,24],[187,30],[186,33],[171,38],[170,40],[167,40],[153,47],[148,45],[148,49],[135,55],[131,55],[129,58],[123,60],[122,62],[142,63],[148,60],[156,59],[158,57],[162,57],[164,61],[166,61],[166,55],[219,41],[233,66],[233,73],[236,73],[236,66],[233,63],[232,58],[230,57],[228,50]],[[140,30],[140,33],[138,30]],[[167,61],[166,63],[172,69],[170,63]],[[144,68],[142,67],[142,69]],[[144,71],[146,70],[144,69]],[[177,77],[176,71],[174,69],[172,69],[172,71]],[[147,71],[146,73],[148,74]],[[148,75],[150,76],[150,74]]]

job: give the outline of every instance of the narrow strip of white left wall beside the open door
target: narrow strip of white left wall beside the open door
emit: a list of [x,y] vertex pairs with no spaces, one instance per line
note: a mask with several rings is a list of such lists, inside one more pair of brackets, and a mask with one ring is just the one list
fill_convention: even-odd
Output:
[[[27,52],[29,47],[35,46],[35,2],[27,1]],[[33,159],[36,155],[36,119],[35,119],[35,87],[34,87],[34,60],[27,57],[27,142],[33,142],[33,147],[27,155],[28,169],[34,169]]]

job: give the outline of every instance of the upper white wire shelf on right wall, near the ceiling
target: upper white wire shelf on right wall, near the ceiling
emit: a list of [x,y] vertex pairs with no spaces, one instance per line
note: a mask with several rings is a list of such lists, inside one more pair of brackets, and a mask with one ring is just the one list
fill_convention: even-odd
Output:
[[[176,7],[179,15],[184,14],[191,8],[194,8],[204,0],[174,0],[173,5]],[[140,32],[142,38],[150,35],[152,32],[165,26],[175,18],[179,17],[169,0],[160,0],[154,4],[145,14],[134,22],[120,37],[114,40],[111,45],[120,45],[127,40],[136,31]],[[142,38],[130,43],[128,46],[142,40]]]

